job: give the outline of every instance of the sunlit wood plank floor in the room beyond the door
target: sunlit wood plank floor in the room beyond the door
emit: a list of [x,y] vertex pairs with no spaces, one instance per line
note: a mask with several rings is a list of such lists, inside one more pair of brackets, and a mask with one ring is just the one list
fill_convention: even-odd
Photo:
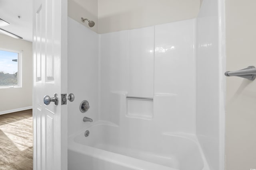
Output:
[[32,169],[32,109],[0,115],[0,170]]

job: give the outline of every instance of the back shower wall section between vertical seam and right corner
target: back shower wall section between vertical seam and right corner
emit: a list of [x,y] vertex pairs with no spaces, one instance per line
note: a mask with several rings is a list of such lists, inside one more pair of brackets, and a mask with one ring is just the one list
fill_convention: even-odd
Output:
[[162,131],[196,133],[195,20],[155,26],[154,111]]

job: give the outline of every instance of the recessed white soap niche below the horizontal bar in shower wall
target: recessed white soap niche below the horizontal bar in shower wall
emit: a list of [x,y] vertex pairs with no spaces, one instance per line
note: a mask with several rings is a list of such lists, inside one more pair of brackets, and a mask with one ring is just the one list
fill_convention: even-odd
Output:
[[126,117],[151,120],[153,100],[126,98]]

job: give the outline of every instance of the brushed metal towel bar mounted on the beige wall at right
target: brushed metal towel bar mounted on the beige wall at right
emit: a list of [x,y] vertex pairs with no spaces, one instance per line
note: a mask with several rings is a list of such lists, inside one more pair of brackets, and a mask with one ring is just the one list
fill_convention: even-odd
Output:
[[238,76],[247,78],[248,80],[254,80],[256,78],[256,68],[254,66],[248,66],[242,70],[227,71],[225,72],[225,76]]

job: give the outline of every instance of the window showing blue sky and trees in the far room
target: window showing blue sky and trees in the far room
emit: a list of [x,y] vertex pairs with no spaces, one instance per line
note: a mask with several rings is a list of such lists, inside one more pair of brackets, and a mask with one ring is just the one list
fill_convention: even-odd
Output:
[[0,88],[21,87],[21,53],[0,49]]

